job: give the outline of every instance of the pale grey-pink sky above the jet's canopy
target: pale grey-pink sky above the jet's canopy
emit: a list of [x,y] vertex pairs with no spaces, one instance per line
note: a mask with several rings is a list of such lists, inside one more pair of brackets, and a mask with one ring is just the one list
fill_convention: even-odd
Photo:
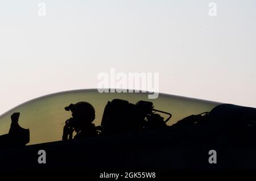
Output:
[[110,68],[159,73],[159,92],[256,107],[255,10],[253,0],[1,1],[0,114],[97,88]]

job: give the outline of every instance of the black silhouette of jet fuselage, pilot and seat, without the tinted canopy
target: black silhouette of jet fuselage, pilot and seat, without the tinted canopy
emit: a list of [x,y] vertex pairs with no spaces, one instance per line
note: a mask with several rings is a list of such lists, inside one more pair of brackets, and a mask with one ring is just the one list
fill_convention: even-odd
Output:
[[[95,127],[95,110],[86,102],[65,107],[72,112],[65,122],[63,140],[0,150],[4,169],[255,169],[256,109],[221,104],[210,112],[191,115],[167,126],[171,114],[155,110],[152,102],[131,104],[114,99],[106,104],[102,132]],[[167,119],[162,117],[164,113]],[[24,145],[29,138],[11,116],[9,134],[0,146]],[[77,134],[73,138],[73,132]],[[118,134],[122,133],[122,134]],[[114,135],[116,134],[116,135]],[[97,137],[98,136],[98,137]],[[96,137],[93,139],[83,139]],[[23,140],[23,141],[21,141]],[[19,144],[18,144],[19,143]],[[6,146],[5,145],[5,146]],[[38,150],[47,150],[46,165],[36,162]],[[208,162],[209,150],[217,151],[218,164]],[[21,156],[22,155],[22,156]],[[71,155],[68,156],[67,155]],[[100,156],[99,156],[100,155]],[[65,158],[65,161],[63,161]]]

